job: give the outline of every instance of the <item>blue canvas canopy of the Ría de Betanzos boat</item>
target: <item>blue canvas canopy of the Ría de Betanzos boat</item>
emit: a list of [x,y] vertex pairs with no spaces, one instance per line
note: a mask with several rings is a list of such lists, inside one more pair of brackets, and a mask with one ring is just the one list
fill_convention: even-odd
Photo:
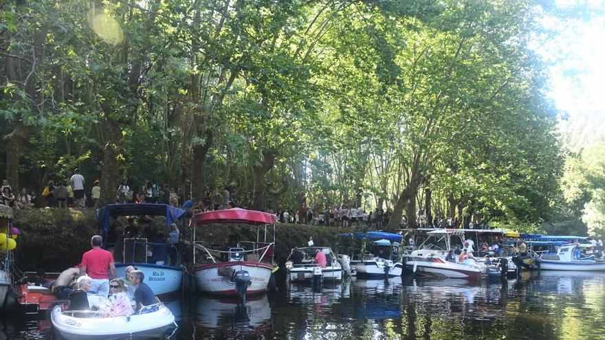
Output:
[[185,210],[167,204],[129,203],[109,204],[97,209],[99,226],[103,227],[103,238],[107,238],[109,218],[111,216],[150,215],[166,217],[166,227],[184,216]]

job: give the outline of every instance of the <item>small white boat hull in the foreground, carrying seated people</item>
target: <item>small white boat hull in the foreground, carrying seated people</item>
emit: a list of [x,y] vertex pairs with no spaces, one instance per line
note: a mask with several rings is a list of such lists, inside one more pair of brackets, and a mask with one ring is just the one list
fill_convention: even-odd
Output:
[[52,326],[67,340],[163,338],[175,324],[173,313],[161,303],[145,306],[141,312],[130,317],[103,317],[102,311],[61,310],[58,305],[53,308],[51,319]]

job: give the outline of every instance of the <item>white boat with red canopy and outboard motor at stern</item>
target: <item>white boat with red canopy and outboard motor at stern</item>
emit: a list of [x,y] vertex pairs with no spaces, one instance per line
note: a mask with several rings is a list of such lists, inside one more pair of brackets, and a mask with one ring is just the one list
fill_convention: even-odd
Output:
[[[199,290],[217,295],[239,295],[241,292],[236,284],[246,280],[245,295],[266,291],[274,268],[276,220],[274,214],[239,208],[195,214],[190,223],[192,227],[234,223],[256,226],[256,242],[230,237],[226,245],[212,248],[195,243],[197,228],[194,228],[195,253],[199,252],[199,258],[194,255],[197,264],[194,272]],[[272,225],[272,230],[267,230],[267,225]],[[272,240],[267,240],[267,236]]]

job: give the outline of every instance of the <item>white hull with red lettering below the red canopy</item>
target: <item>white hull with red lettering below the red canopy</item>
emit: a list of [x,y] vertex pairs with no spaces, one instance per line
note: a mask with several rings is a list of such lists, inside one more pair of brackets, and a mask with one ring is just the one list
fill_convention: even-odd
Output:
[[239,295],[234,282],[231,282],[230,275],[225,273],[240,270],[250,273],[250,285],[246,295],[263,293],[267,290],[273,267],[267,263],[249,261],[216,262],[195,267],[197,288],[205,293]]

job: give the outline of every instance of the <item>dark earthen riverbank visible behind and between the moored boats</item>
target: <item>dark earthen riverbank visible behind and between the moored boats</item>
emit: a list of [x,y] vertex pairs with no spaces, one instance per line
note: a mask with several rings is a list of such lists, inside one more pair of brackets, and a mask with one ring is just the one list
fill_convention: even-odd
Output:
[[[118,231],[127,224],[118,218]],[[21,271],[43,268],[48,272],[72,267],[90,249],[91,236],[99,233],[95,209],[16,209],[13,225],[21,231],[17,238],[15,261]],[[164,227],[164,218],[155,218],[158,229]],[[187,228],[184,233],[187,234]],[[309,237],[315,245],[335,247],[336,236],[350,229],[316,225],[276,225],[275,256],[285,260],[290,249],[305,247]],[[261,233],[262,234],[262,233]],[[256,227],[247,225],[217,225],[199,227],[196,240],[208,245],[225,242],[234,235],[241,240],[256,239]]]

